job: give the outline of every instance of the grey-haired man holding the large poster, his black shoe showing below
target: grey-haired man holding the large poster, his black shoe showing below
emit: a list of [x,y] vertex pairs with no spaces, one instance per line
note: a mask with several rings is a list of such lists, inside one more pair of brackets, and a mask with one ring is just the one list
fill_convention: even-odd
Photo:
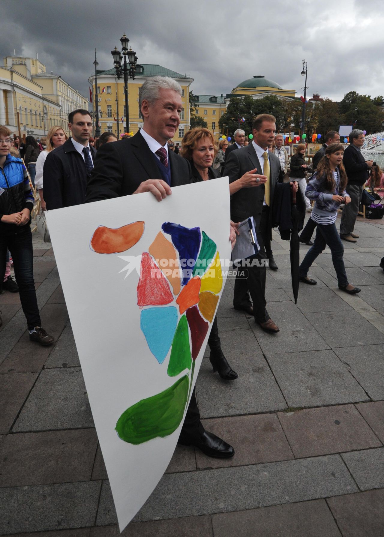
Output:
[[[152,192],[158,201],[171,194],[171,186],[192,183],[191,165],[168,151],[182,111],[182,89],[168,77],[148,78],[139,90],[143,128],[132,138],[105,143],[98,150],[87,186],[86,201]],[[194,392],[186,412],[179,443],[194,445],[206,455],[231,457],[232,446],[200,422]]]

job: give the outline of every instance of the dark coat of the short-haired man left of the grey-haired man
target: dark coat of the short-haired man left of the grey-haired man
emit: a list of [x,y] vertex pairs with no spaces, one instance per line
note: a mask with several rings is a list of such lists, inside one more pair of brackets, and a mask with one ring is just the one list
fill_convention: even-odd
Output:
[[[50,151],[44,163],[43,189],[47,209],[61,209],[84,203],[87,175],[83,157],[69,138]],[[96,149],[89,146],[95,163]]]

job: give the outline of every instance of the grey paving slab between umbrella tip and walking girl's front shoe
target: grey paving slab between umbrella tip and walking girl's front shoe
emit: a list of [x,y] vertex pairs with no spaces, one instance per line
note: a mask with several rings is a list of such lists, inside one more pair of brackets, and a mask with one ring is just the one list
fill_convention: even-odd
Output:
[[[293,292],[287,291],[287,294],[293,300]],[[298,308],[302,313],[311,313],[318,311],[343,311],[352,309],[349,304],[344,302],[328,287],[318,287],[317,285],[300,284]]]

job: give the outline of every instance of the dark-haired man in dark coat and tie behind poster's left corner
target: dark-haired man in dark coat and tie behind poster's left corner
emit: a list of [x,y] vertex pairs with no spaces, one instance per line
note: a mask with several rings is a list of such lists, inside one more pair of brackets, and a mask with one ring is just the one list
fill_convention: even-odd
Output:
[[85,201],[88,182],[96,157],[96,149],[89,139],[92,118],[87,110],[68,114],[72,136],[47,155],[43,168],[44,199],[47,209],[80,205]]

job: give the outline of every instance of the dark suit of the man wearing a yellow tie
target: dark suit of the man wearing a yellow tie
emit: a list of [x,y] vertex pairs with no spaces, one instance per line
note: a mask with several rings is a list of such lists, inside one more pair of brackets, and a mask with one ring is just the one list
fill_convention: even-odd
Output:
[[[268,150],[267,150],[268,151]],[[276,155],[269,151],[270,162],[270,199],[273,200],[274,187],[281,177],[280,161]],[[258,156],[253,143],[245,146],[241,151],[233,151],[229,155],[224,169],[223,176],[229,176],[229,183],[240,179],[244,173],[257,169],[259,175],[263,175]],[[253,216],[255,220],[255,230],[260,245],[260,252],[257,256],[259,262],[265,259],[265,238],[271,237],[271,217],[270,208],[263,205],[265,187],[264,184],[251,188],[242,188],[231,197],[231,219],[234,222],[245,220]],[[250,304],[248,290],[253,301],[253,315],[255,320],[264,323],[269,320],[269,315],[265,309],[265,278],[266,266],[249,267],[248,278],[236,277],[234,307],[242,308]]]

